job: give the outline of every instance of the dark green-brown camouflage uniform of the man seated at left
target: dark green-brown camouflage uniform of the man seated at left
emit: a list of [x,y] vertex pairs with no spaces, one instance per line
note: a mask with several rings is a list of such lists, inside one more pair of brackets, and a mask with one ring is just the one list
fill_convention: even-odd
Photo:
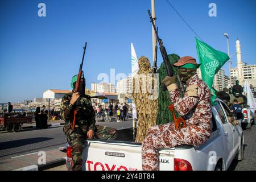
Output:
[[[82,150],[84,148],[84,139],[87,132],[92,129],[96,139],[113,140],[117,138],[117,130],[106,126],[95,126],[95,112],[90,101],[90,96],[79,97],[76,105],[70,104],[72,93],[65,94],[61,101],[61,117],[65,121],[63,131],[67,135],[68,143],[72,147],[73,170],[82,169]],[[71,129],[74,117],[75,107],[78,110],[76,114],[75,129]]]

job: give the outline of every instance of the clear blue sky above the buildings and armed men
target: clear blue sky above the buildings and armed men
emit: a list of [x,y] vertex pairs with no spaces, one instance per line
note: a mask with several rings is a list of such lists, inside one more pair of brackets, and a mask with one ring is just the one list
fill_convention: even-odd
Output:
[[[38,4],[46,4],[46,17],[38,16]],[[256,1],[170,0],[199,36],[213,48],[227,52],[224,32],[230,38],[230,54],[241,41],[242,60],[256,60]],[[209,3],[217,5],[210,17]],[[70,89],[88,42],[84,72],[86,87],[100,73],[131,72],[130,43],[137,56],[152,61],[151,0],[98,1],[0,1],[0,102],[33,100],[47,89]],[[159,36],[168,53],[197,59],[195,34],[166,0],[155,0]],[[159,52],[159,51],[158,51]],[[236,67],[236,55],[232,57]],[[158,65],[162,62],[158,53]],[[151,62],[152,63],[152,62]],[[224,65],[225,71],[228,64]]]

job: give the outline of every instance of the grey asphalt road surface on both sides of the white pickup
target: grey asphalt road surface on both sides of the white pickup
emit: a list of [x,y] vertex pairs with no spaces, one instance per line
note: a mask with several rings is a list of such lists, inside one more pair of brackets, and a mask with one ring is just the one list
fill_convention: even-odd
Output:
[[[132,126],[130,121],[123,122],[98,122],[97,125],[105,125],[122,129]],[[242,162],[233,161],[228,170],[256,170],[256,125],[252,130],[244,131],[245,159]],[[52,127],[44,130],[23,130],[20,133],[0,133],[0,162],[14,156],[31,154],[38,151],[48,151],[63,147],[66,137],[63,127]],[[55,168],[56,170],[59,168]]]

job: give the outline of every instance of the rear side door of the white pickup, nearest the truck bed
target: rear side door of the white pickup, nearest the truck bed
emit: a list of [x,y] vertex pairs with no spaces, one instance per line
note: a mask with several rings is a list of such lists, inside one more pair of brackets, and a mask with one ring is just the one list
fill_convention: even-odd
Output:
[[225,117],[224,110],[222,109],[220,102],[216,101],[216,105],[214,106],[220,115],[220,119],[222,122],[222,127],[223,127],[223,142],[224,142],[224,157],[225,157],[225,162],[226,165],[229,166],[229,164],[232,162],[232,158],[234,155],[234,145],[233,145],[233,140],[234,140],[234,135],[233,135],[233,130],[232,130],[232,124],[228,122],[228,119]]

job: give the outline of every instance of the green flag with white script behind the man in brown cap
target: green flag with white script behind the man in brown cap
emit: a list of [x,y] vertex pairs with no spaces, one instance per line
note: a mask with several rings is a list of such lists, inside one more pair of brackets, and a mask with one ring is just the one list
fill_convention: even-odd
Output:
[[216,91],[212,89],[214,75],[221,69],[221,67],[229,60],[229,56],[221,51],[210,47],[208,44],[196,39],[197,55],[199,57],[199,63],[202,79],[208,85],[213,97],[211,98],[212,104],[216,99]]

